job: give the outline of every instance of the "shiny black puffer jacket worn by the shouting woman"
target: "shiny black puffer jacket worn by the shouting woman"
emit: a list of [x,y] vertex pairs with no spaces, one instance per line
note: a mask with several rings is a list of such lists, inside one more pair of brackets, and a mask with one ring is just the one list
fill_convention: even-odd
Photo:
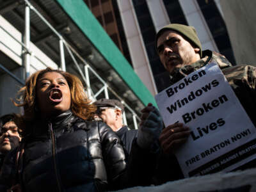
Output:
[[[24,139],[22,187],[31,191],[104,191],[121,188],[125,156],[116,134],[102,122],[86,122],[72,112],[36,122]],[[16,150],[0,174],[0,189],[15,177]]]

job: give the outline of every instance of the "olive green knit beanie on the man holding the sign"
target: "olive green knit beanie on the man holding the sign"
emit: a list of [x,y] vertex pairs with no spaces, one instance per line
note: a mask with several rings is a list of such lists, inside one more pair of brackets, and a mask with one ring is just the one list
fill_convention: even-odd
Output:
[[157,50],[157,40],[159,36],[163,33],[163,31],[166,31],[168,29],[172,31],[176,31],[177,33],[185,37],[185,39],[188,40],[188,42],[191,45],[198,47],[200,49],[200,57],[202,58],[202,45],[196,34],[196,29],[192,26],[184,26],[182,24],[168,24],[167,26],[164,26],[162,29],[160,29],[156,34],[156,40],[155,40],[156,50]]

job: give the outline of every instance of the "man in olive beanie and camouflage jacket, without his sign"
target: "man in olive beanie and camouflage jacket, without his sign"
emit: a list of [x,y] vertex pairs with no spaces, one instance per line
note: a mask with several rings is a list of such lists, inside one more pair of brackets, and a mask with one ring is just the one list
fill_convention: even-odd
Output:
[[[202,45],[193,26],[168,24],[157,32],[155,45],[161,63],[170,74],[170,86],[209,63],[217,63],[246,113],[256,125],[255,67],[232,66],[225,56],[210,50],[202,51]],[[188,127],[173,124],[163,129],[159,142],[165,154],[172,154],[174,149],[186,142],[188,136]]]

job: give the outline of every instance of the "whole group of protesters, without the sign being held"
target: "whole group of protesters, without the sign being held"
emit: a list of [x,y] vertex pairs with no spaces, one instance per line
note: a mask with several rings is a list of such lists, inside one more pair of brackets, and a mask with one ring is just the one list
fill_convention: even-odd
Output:
[[[156,50],[170,85],[218,63],[255,124],[254,67],[231,67],[224,56],[203,52],[195,28],[180,24],[157,33]],[[0,191],[111,191],[184,178],[173,150],[189,127],[173,122],[163,129],[152,104],[141,110],[138,130],[129,130],[120,101],[92,103],[78,77],[51,68],[32,74],[20,96],[13,102],[24,113],[0,118]]]

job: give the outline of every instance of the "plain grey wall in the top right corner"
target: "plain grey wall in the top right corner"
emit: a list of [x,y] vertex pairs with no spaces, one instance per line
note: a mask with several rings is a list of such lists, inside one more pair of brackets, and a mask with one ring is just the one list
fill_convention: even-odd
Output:
[[237,65],[256,66],[256,1],[220,0]]

